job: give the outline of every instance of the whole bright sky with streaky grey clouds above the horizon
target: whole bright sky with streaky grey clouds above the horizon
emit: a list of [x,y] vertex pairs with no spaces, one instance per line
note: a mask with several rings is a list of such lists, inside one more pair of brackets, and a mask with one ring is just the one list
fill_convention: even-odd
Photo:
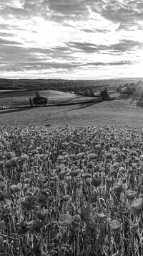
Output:
[[0,78],[142,73],[142,0],[0,0]]

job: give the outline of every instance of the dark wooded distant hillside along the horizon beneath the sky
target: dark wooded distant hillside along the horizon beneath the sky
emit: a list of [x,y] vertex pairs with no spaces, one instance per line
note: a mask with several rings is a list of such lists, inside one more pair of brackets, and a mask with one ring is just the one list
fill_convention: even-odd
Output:
[[102,86],[122,86],[124,83],[137,83],[143,78],[119,78],[102,80],[62,80],[62,79],[0,79],[0,90],[27,89],[27,90],[58,90],[58,91],[83,91],[87,87],[102,89]]

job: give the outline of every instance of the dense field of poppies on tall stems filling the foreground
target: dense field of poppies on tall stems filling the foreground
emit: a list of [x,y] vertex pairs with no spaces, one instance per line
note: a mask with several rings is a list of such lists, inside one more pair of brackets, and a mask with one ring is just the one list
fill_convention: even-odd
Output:
[[143,132],[1,127],[0,255],[143,255]]

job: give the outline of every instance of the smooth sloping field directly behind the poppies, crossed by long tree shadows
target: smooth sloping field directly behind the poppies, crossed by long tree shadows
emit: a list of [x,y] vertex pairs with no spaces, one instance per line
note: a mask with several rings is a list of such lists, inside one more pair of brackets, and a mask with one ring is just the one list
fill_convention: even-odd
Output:
[[143,108],[136,101],[114,100],[70,106],[51,106],[34,109],[9,109],[0,112],[0,125],[96,125],[143,127]]

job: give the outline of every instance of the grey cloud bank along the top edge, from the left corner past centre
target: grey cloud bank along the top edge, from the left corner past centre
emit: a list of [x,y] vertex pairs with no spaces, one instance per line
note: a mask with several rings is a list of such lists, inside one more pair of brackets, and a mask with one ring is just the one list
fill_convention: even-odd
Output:
[[9,18],[9,14],[18,19],[43,17],[56,22],[66,19],[87,19],[89,6],[84,0],[2,0],[0,14]]

